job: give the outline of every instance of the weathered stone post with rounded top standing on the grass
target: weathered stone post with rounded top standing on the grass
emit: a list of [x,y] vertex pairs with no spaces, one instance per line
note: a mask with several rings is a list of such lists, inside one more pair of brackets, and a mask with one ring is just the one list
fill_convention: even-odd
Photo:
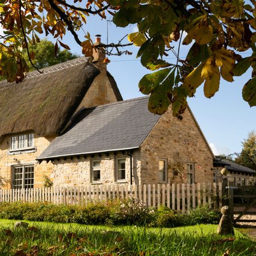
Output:
[[217,234],[234,234],[234,228],[230,217],[230,209],[228,205],[221,208],[222,217],[218,224]]

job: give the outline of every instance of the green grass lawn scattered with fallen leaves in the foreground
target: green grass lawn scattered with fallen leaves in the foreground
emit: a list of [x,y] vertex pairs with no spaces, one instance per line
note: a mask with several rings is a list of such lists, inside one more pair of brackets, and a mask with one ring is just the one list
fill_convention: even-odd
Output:
[[[217,225],[173,229],[0,220],[0,255],[256,255],[256,242],[240,232],[216,235]],[[31,228],[32,226],[36,228]]]

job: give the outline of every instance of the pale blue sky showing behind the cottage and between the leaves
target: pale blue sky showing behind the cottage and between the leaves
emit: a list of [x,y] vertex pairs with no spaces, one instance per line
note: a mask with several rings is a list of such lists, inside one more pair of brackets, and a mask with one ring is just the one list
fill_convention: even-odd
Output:
[[[94,35],[101,34],[101,42],[106,43],[107,23],[109,43],[117,43],[126,34],[136,31],[135,26],[117,28],[112,22],[101,20],[98,16],[88,17],[84,31],[89,31],[92,39]],[[80,40],[85,40],[83,31],[80,31],[79,35]],[[73,53],[81,55],[81,48],[71,35],[65,36],[63,42],[69,45]],[[127,43],[127,40],[123,43]],[[143,96],[139,92],[138,82],[143,75],[150,73],[142,67],[139,59],[136,59],[138,47],[131,46],[127,49],[133,52],[133,55],[110,56],[108,64],[108,71],[114,76],[125,100]],[[186,56],[186,52],[187,47],[182,46],[181,58]],[[242,54],[243,57],[248,55]],[[174,55],[168,58],[174,58]],[[220,91],[210,99],[204,97],[203,86],[200,86],[196,96],[188,99],[189,106],[214,154],[241,152],[243,139],[247,138],[250,131],[256,130],[256,107],[250,108],[242,99],[242,88],[249,78],[250,72],[247,72],[241,77],[234,77],[234,82],[222,80]]]

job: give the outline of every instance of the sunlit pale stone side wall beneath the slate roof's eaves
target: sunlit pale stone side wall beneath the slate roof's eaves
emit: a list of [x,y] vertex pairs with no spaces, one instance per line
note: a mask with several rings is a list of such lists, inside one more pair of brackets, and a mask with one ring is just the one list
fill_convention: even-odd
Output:
[[[138,182],[138,172],[140,173],[139,151],[133,152],[133,182]],[[126,179],[118,181],[121,183],[130,183],[130,156],[121,154],[121,152],[114,154],[88,155],[80,156],[79,158],[61,158],[54,161],[53,172],[51,179],[55,186],[79,186],[89,185],[92,182],[92,160],[101,161],[101,180],[96,181],[96,184],[113,184],[116,182],[115,170],[117,159],[125,158],[126,160]],[[44,163],[45,161],[43,161]]]

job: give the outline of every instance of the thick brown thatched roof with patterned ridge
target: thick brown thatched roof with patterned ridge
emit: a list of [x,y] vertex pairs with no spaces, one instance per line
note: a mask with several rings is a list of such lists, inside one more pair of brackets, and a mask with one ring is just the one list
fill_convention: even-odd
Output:
[[[57,135],[72,117],[100,70],[85,57],[28,73],[23,82],[0,82],[0,141],[34,130]],[[113,88],[116,84],[112,81]]]

